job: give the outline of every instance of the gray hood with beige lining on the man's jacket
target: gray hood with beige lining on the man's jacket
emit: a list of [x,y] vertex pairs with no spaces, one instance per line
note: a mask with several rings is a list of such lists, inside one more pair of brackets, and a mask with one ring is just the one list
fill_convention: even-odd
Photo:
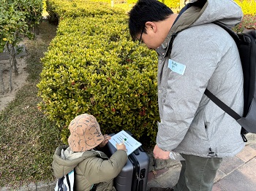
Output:
[[189,4],[181,9],[165,42],[162,43],[162,47],[165,49],[172,36],[175,36],[178,31],[183,31],[192,26],[213,23],[214,21],[219,21],[232,28],[241,22],[242,17],[241,7],[233,0],[189,1]]

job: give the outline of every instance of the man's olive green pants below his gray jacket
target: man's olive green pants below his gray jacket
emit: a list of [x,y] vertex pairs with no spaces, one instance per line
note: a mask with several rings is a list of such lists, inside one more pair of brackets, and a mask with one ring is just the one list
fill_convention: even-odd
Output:
[[211,191],[222,158],[181,154],[181,174],[174,191]]

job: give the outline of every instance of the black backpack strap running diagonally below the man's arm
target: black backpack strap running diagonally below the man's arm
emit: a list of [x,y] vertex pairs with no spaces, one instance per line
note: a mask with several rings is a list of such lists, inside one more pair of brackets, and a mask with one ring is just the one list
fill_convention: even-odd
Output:
[[211,99],[211,101],[214,102],[214,104],[217,104],[224,112],[229,114],[231,117],[233,117],[235,120],[239,120],[241,116],[236,113],[233,109],[231,109],[229,106],[224,104],[219,98],[217,98],[213,93],[211,93],[208,89],[206,89],[205,94],[208,98]]

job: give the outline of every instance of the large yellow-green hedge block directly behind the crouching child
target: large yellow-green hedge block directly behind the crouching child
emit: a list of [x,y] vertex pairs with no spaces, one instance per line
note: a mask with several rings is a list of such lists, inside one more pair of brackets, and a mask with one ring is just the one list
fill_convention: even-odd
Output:
[[39,109],[64,127],[64,142],[69,122],[85,112],[103,133],[155,141],[157,54],[132,42],[126,15],[64,18],[42,63]]

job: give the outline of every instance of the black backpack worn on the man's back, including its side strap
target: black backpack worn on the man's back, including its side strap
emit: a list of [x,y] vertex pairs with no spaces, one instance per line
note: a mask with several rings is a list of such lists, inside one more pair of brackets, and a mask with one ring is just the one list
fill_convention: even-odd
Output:
[[236,34],[222,23],[214,22],[214,24],[224,28],[233,37],[238,47],[244,73],[243,116],[230,109],[209,90],[206,89],[205,94],[241,125],[241,136],[246,142],[247,139],[244,136],[246,133],[256,133],[256,31],[255,29],[245,29],[243,33]]

